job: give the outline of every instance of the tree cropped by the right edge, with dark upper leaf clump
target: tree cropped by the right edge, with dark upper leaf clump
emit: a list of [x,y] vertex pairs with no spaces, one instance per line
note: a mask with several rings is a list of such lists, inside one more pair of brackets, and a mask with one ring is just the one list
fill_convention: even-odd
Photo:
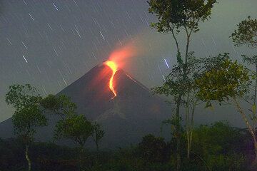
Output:
[[[247,19],[241,21],[238,25],[238,28],[233,31],[231,34],[231,38],[235,46],[243,46],[246,45],[251,48],[257,48],[257,19],[251,19],[251,16],[248,16]],[[253,133],[256,137],[257,127],[257,110],[256,110],[256,100],[257,100],[257,55],[246,56],[242,55],[243,62],[247,63],[248,66],[253,66],[253,81],[250,85],[250,91],[246,98],[243,98],[248,105],[250,105],[249,110],[251,111],[250,118],[253,122]],[[254,147],[256,153],[256,161],[257,161],[257,141],[256,138],[254,140]]]

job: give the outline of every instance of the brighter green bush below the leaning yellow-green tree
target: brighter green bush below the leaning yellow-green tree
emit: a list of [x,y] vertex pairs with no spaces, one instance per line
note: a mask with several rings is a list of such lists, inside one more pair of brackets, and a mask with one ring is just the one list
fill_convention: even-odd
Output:
[[243,140],[241,132],[228,123],[217,122],[200,125],[193,130],[193,149],[206,158],[208,155],[234,153],[240,149],[237,145]]

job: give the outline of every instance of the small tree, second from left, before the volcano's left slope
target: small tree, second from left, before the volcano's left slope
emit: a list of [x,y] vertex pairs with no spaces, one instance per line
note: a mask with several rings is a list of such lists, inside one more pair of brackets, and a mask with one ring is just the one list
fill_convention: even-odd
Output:
[[41,105],[46,110],[61,117],[56,123],[54,139],[68,139],[79,145],[79,168],[81,168],[86,141],[92,137],[98,150],[99,142],[104,136],[104,130],[101,130],[99,124],[92,124],[85,115],[78,115],[76,103],[72,102],[71,98],[66,95],[48,95],[41,100]]

